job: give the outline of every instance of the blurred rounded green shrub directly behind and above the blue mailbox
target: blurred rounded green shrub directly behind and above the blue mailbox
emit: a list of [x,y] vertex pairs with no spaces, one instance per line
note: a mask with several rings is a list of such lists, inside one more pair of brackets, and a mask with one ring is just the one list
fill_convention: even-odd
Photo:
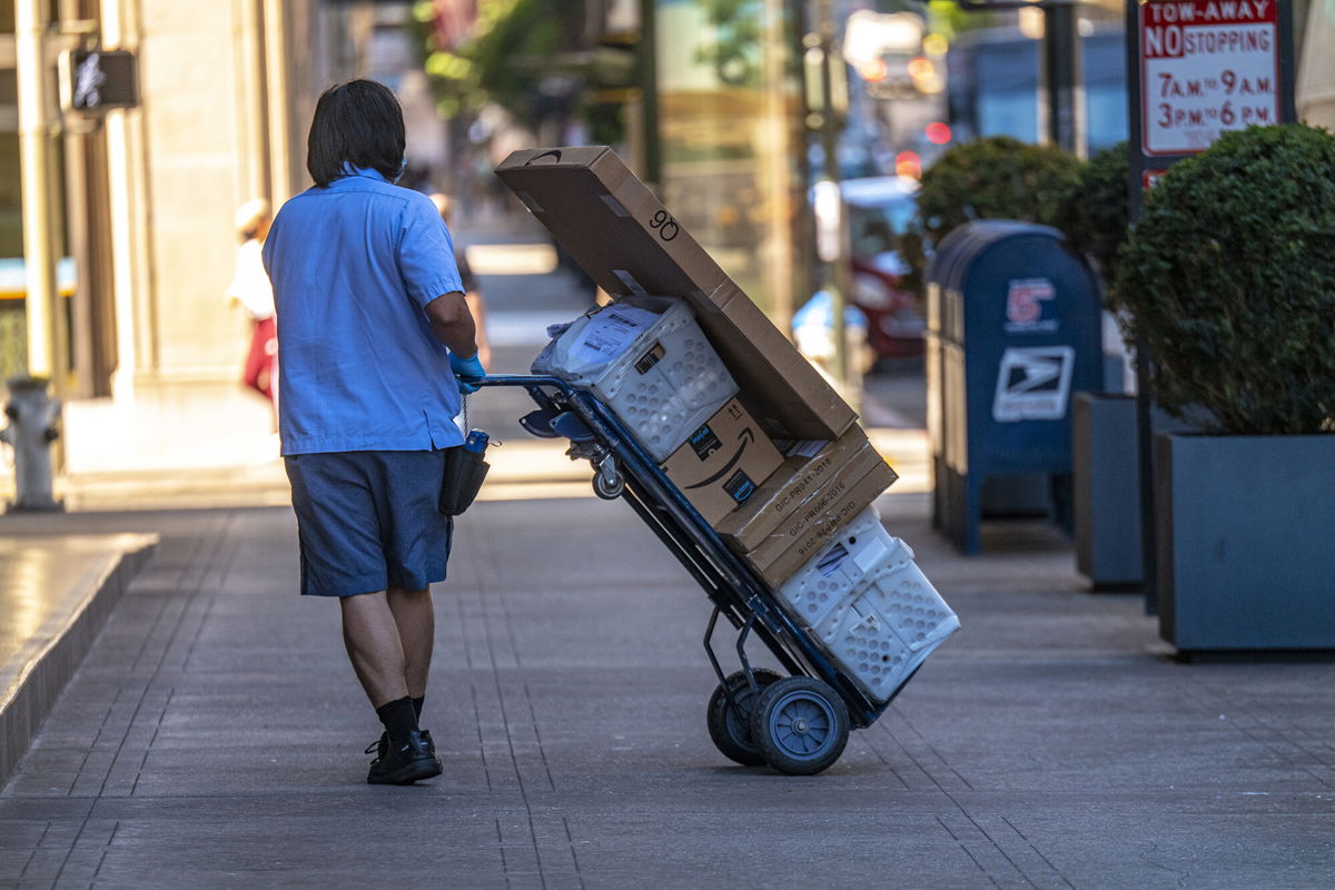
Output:
[[940,244],[951,230],[979,219],[1052,226],[1076,187],[1080,161],[1055,145],[988,136],[949,149],[922,173],[917,238],[905,239],[913,283],[925,284],[922,242]]

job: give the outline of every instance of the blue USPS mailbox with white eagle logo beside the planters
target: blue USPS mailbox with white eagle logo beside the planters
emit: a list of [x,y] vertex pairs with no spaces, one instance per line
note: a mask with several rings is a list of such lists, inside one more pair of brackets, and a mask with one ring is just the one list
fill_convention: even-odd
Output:
[[1071,474],[1071,395],[1103,390],[1099,280],[1047,226],[968,223],[928,272],[933,524],[980,550],[984,483]]

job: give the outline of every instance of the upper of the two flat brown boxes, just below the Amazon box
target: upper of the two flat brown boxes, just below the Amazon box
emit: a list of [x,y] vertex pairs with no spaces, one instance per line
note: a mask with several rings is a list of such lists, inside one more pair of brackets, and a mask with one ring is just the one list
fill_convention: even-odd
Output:
[[[802,532],[794,524],[836,475],[858,480],[884,459],[860,427],[828,442],[812,456],[789,458],[738,510],[717,526],[718,534],[738,554],[754,552],[773,536]],[[890,471],[890,482],[897,479]]]

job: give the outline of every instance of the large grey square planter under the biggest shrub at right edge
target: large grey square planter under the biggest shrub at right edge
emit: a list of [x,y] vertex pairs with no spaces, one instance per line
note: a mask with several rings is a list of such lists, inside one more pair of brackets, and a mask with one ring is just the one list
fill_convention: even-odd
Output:
[[1159,632],[1335,650],[1335,435],[1155,438]]

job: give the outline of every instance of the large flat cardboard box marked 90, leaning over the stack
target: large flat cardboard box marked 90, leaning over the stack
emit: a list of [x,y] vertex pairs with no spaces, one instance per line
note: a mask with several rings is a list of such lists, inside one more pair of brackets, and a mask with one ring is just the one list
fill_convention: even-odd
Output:
[[684,296],[774,436],[837,439],[857,414],[614,151],[517,151],[497,176],[613,299]]

